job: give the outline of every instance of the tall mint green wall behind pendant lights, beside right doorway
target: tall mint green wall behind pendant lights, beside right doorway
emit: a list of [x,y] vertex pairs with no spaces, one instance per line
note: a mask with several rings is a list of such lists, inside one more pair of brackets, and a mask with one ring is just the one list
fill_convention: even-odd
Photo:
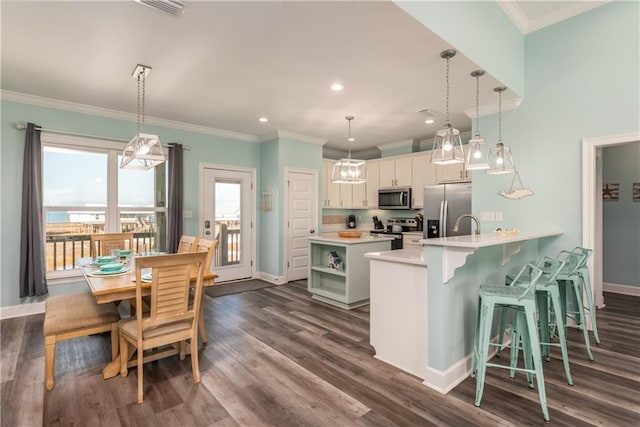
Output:
[[[503,141],[535,195],[504,199],[510,176],[474,172],[473,211],[504,213],[487,227],[563,230],[548,254],[582,244],[582,138],[640,129],[639,12],[612,2],[526,36],[527,96],[503,113]],[[493,145],[497,115],[480,125]]]

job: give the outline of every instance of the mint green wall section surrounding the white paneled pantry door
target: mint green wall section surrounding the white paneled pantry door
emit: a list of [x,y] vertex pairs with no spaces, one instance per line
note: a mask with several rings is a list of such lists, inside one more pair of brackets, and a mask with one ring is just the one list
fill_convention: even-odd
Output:
[[[287,138],[278,138],[262,144],[262,186],[258,188],[261,195],[264,190],[275,190],[273,210],[260,212],[260,271],[274,276],[283,272],[283,230],[285,200],[283,200],[285,168],[310,169],[322,176],[322,145],[310,144]],[[318,221],[322,214],[322,186],[318,182]]]

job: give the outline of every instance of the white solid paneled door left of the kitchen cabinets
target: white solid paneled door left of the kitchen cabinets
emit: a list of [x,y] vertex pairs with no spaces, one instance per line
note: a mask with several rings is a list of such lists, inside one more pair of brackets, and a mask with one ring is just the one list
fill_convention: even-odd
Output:
[[287,173],[287,280],[306,279],[309,268],[307,237],[316,234],[318,175],[315,171]]

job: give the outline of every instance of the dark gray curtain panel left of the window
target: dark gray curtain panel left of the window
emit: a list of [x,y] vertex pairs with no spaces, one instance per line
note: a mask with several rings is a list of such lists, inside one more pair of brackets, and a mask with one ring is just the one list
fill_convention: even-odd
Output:
[[46,295],[46,265],[42,223],[42,144],[40,130],[27,124],[22,167],[20,231],[20,298]]

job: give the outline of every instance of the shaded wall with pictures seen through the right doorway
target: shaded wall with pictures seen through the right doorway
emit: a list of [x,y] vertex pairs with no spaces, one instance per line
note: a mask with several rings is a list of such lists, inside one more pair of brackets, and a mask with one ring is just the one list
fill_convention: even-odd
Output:
[[620,184],[620,198],[602,202],[602,279],[640,287],[640,201],[632,199],[633,183],[640,183],[640,142],[602,149],[602,182]]

